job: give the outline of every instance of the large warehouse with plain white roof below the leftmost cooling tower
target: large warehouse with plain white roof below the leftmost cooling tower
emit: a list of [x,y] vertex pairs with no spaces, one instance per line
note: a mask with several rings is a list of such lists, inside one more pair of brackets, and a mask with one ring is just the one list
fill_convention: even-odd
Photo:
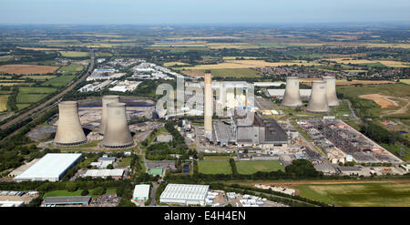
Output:
[[80,158],[81,153],[48,153],[36,164],[15,177],[15,181],[58,181]]

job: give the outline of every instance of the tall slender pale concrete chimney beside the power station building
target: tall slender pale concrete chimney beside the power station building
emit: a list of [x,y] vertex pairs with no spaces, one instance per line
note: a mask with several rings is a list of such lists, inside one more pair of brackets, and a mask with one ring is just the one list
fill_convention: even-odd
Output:
[[205,138],[212,138],[212,80],[210,73],[205,73],[204,92],[204,129]]

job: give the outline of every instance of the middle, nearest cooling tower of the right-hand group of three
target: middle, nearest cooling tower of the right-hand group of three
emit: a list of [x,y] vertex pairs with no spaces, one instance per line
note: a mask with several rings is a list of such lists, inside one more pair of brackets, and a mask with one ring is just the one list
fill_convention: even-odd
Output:
[[325,113],[329,111],[326,97],[326,82],[323,80],[313,80],[312,95],[306,111],[313,113]]

